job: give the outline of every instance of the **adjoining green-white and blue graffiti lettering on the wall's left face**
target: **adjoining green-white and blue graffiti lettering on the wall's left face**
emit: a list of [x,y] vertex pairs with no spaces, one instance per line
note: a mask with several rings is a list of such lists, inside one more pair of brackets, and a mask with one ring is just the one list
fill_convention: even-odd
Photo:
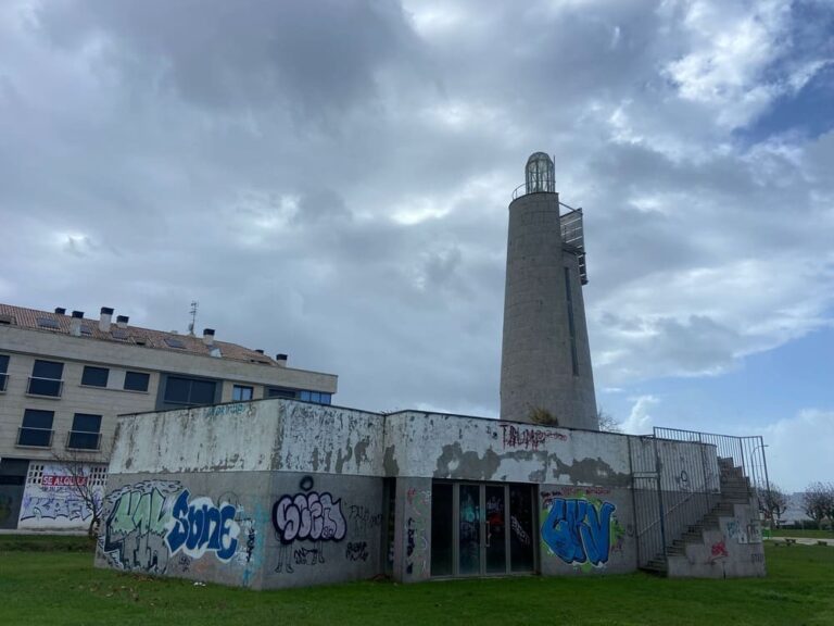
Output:
[[220,562],[251,559],[254,536],[241,536],[235,505],[211,498],[191,498],[176,480],[143,480],[112,491],[105,498],[99,547],[104,559],[121,569],[150,574],[167,571],[173,556],[188,572],[192,561],[212,553]]

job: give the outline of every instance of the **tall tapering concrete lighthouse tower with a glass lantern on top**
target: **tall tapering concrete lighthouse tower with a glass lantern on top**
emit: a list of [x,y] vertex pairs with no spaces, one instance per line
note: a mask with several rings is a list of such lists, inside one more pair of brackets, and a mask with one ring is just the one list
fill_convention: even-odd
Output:
[[582,210],[559,202],[553,161],[535,152],[509,204],[502,420],[598,429],[586,283]]

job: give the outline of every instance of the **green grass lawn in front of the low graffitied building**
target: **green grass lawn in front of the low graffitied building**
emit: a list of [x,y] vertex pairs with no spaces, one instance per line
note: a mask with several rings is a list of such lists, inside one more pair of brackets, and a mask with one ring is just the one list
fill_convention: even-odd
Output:
[[[84,538],[0,536],[0,624],[834,624],[834,548],[766,546],[763,579],[504,578],[280,591],[94,569]],[[55,549],[43,549],[54,540]],[[63,547],[63,549],[62,549]]]

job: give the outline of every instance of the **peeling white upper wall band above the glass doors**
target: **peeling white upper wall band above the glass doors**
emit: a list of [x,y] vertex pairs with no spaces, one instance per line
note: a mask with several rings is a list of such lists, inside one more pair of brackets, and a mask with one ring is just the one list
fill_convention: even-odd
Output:
[[387,417],[384,466],[402,476],[631,485],[626,436],[414,411]]

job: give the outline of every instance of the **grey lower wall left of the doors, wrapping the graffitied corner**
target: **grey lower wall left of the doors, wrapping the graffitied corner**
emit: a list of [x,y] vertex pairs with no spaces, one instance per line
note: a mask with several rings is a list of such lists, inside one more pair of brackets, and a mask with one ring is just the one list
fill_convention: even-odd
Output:
[[381,569],[382,480],[274,472],[122,474],[96,563],[253,588]]

